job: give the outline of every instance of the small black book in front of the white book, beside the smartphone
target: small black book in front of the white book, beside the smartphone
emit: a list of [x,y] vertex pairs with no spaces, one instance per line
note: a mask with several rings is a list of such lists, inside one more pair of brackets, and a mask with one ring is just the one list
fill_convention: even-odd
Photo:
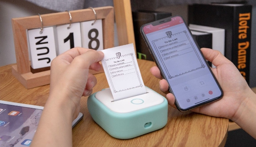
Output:
[[[197,45],[200,48],[212,49],[212,34],[207,32],[193,31],[191,30],[193,37],[196,40]],[[209,66],[213,67],[212,63],[208,61]]]

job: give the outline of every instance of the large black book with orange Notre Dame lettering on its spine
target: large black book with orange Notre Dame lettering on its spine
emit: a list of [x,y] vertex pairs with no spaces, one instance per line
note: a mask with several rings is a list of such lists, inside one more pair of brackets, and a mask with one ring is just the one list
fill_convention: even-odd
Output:
[[249,84],[252,6],[193,4],[188,11],[191,24],[225,29],[225,57],[234,63]]

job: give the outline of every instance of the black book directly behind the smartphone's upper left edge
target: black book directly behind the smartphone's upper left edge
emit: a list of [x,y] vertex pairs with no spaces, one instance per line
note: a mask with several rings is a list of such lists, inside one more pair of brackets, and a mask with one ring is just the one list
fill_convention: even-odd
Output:
[[172,16],[171,12],[146,11],[146,10],[138,10],[138,11],[132,12],[135,45],[136,45],[136,51],[138,55],[137,57],[139,59],[154,61],[142,35],[140,34],[140,27],[143,24],[154,22],[156,20],[167,18],[169,16]]

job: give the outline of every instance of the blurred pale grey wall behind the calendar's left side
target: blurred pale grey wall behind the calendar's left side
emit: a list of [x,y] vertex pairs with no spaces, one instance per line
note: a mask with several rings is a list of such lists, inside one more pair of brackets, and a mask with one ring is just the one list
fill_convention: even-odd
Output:
[[23,0],[0,0],[0,66],[16,63],[11,19],[53,12]]

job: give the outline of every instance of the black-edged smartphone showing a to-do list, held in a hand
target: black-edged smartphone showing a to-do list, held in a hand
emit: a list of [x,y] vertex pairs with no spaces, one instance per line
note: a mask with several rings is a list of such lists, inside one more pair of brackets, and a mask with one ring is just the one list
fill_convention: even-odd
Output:
[[140,31],[179,111],[222,98],[222,89],[181,16],[144,24]]

